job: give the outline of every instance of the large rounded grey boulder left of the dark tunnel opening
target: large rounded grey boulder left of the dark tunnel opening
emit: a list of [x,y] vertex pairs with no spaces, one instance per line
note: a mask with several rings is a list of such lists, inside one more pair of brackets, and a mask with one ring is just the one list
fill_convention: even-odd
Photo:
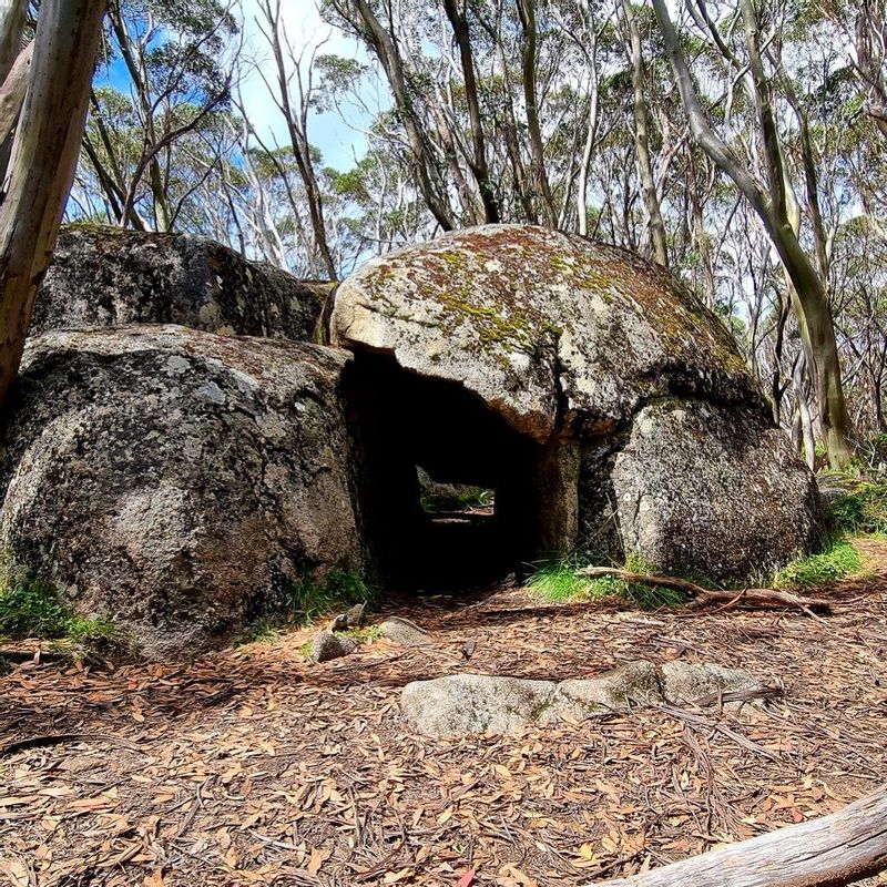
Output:
[[300,577],[359,574],[346,363],[177,326],[32,337],[0,548],[154,657],[224,643]]

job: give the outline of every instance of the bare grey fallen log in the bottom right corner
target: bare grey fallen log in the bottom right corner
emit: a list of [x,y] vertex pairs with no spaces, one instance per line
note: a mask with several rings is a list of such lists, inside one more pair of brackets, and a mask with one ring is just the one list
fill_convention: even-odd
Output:
[[[838,813],[606,887],[843,887],[887,869],[887,786]],[[587,885],[593,887],[593,885]]]

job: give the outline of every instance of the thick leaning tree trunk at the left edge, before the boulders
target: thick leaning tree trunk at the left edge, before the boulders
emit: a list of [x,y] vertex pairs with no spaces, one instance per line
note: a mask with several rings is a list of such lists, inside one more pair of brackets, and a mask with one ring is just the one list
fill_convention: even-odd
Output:
[[28,96],[0,206],[0,405],[16,380],[80,156],[101,37],[101,0],[43,0]]

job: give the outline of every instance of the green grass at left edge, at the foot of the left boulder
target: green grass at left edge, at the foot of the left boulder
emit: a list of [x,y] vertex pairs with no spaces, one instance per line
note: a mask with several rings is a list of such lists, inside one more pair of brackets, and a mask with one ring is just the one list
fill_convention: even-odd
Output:
[[78,615],[50,582],[9,567],[0,584],[0,635],[65,640],[86,651],[121,646],[109,620]]

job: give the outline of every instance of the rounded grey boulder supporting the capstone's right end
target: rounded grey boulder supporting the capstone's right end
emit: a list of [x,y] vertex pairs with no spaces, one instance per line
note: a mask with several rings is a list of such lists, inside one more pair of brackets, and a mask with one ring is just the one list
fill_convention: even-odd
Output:
[[[816,481],[782,430],[701,401],[653,404],[634,418],[611,473],[623,543],[679,575],[777,569],[819,531]],[[587,532],[606,516],[588,512]]]

